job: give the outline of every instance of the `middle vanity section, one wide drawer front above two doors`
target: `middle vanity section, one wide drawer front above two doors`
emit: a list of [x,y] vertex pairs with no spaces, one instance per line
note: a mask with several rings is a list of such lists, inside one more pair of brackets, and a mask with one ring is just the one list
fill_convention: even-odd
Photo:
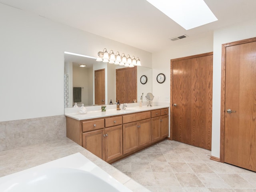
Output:
[[123,123],[123,154],[133,152],[151,143],[150,112],[125,115]]

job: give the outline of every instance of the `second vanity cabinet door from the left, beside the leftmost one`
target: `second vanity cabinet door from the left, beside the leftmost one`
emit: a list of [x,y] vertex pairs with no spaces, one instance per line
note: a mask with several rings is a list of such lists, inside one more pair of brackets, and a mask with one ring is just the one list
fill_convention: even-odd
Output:
[[123,154],[122,125],[105,129],[105,161],[108,162]]

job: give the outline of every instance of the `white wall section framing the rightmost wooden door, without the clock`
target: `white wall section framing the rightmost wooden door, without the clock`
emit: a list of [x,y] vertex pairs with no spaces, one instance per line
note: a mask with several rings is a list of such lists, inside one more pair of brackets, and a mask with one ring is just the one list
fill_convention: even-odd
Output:
[[222,44],[256,37],[256,19],[214,31],[212,156],[220,157],[220,86]]

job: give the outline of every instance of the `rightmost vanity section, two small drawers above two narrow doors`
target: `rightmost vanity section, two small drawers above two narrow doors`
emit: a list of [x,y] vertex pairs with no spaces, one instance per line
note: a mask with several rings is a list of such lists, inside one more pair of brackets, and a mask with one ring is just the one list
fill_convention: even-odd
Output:
[[151,140],[156,142],[167,137],[168,131],[168,108],[151,111]]

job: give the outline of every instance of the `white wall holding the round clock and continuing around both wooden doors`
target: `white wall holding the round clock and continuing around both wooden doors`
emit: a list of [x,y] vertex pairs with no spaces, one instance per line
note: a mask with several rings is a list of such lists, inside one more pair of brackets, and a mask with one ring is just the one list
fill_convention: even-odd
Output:
[[[182,44],[176,41],[163,52],[152,54],[153,94],[160,95],[164,102],[170,96],[170,59],[214,52],[213,56],[213,100],[212,100],[212,156],[220,157],[220,85],[221,85],[221,54],[222,44],[252,38],[256,35],[256,19],[234,24],[214,31],[214,34],[205,34],[197,41]],[[156,76],[159,73],[166,75],[166,82],[158,84]],[[172,104],[172,103],[170,103]]]

